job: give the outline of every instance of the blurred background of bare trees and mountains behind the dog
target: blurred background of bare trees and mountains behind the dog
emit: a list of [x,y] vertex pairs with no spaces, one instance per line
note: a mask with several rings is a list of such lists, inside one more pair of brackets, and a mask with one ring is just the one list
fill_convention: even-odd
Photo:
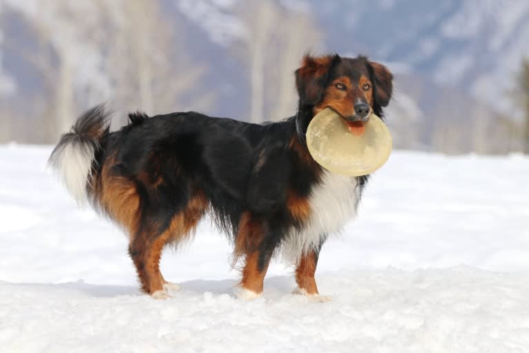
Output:
[[84,109],[294,115],[303,53],[391,68],[396,148],[529,152],[529,2],[0,0],[0,143],[52,144]]

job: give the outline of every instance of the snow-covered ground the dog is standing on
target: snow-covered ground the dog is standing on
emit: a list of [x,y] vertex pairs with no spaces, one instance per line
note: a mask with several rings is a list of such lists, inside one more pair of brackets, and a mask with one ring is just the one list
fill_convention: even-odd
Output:
[[169,300],[138,293],[126,238],[46,171],[50,146],[0,146],[0,352],[529,352],[529,158],[396,151],[323,248],[314,303],[273,263],[235,299],[207,222],[168,249]]

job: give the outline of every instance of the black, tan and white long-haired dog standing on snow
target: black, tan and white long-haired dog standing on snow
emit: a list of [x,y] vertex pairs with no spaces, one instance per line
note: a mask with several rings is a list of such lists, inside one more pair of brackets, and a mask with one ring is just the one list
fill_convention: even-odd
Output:
[[90,109],[50,155],[78,203],[92,206],[128,234],[142,290],[170,297],[160,273],[162,249],[190,238],[206,214],[244,259],[240,298],[258,298],[273,256],[296,266],[295,292],[318,298],[320,249],[356,214],[368,176],[327,171],[307,150],[311,119],[331,108],[347,122],[383,117],[393,75],[367,57],[305,55],[295,72],[296,115],[249,124],[195,112],[148,117],[110,132],[104,106]]

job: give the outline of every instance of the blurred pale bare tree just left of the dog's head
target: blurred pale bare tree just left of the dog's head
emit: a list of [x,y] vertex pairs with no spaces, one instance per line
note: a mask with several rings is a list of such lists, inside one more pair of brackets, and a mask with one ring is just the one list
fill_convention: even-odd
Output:
[[282,119],[296,109],[294,70],[322,37],[307,13],[276,1],[241,1],[236,15],[245,28],[235,51],[248,67],[250,121]]

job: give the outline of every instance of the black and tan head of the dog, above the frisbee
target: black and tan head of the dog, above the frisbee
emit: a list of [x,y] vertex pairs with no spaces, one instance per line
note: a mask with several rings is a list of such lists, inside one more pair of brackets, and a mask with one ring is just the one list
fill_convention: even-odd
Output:
[[[348,122],[367,121],[371,113],[383,116],[393,90],[393,75],[367,57],[305,55],[296,70],[300,111],[316,115],[331,108]],[[308,122],[305,122],[308,124]]]

